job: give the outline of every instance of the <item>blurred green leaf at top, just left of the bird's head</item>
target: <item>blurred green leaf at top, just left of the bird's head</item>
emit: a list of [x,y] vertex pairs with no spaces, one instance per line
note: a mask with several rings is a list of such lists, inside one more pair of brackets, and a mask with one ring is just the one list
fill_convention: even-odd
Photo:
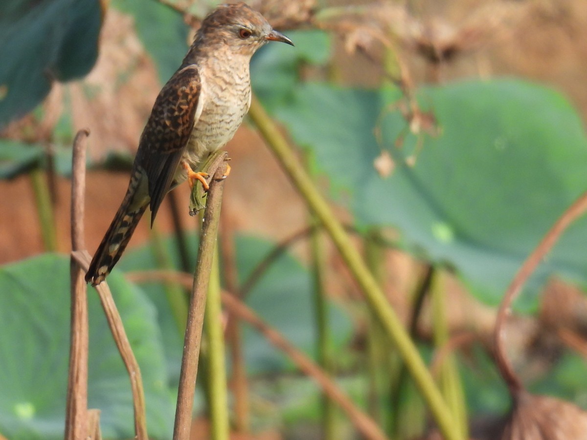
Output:
[[161,83],[167,82],[188,49],[189,28],[183,16],[154,1],[113,0],[112,6],[133,16],[137,34],[153,57]]

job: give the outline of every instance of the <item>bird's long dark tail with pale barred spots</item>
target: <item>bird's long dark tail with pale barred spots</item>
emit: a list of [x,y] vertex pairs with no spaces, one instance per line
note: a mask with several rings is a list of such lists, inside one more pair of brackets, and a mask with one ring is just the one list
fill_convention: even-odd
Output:
[[120,208],[118,208],[112,224],[110,224],[110,228],[108,228],[106,235],[104,235],[102,243],[98,246],[94,258],[90,263],[90,268],[87,270],[86,282],[92,283],[93,286],[101,283],[106,278],[106,275],[110,273],[114,265],[116,265],[126,245],[129,243],[134,229],[139,224],[141,216],[149,206],[148,198],[146,202],[136,203],[136,188],[132,187],[133,182],[131,182],[129,190]]

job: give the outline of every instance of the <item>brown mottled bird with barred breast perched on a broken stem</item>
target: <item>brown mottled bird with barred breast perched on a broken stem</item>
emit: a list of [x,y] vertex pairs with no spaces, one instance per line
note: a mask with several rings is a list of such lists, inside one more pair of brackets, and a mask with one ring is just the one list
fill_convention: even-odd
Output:
[[98,285],[120,259],[147,207],[151,226],[168,191],[188,180],[208,189],[198,165],[232,139],[251,106],[252,55],[265,43],[294,45],[242,2],[220,5],[195,33],[158,94],[140,136],[129,187],[97,248],[86,282]]

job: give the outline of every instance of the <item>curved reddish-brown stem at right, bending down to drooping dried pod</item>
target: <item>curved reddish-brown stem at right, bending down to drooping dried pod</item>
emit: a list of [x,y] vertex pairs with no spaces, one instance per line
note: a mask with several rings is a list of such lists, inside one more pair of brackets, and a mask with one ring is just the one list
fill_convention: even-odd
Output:
[[522,267],[519,268],[510,286],[505,291],[500,308],[495,319],[494,344],[495,344],[495,361],[501,376],[510,389],[512,396],[516,396],[524,390],[522,382],[515,374],[514,368],[505,353],[505,320],[510,315],[511,304],[518,296],[522,286],[528,278],[534,273],[538,264],[544,259],[545,255],[551,251],[552,247],[558,241],[561,234],[568,226],[581,216],[587,210],[587,192],[583,193],[555,222],[552,228],[546,233],[542,241],[536,246],[534,251],[525,260]]

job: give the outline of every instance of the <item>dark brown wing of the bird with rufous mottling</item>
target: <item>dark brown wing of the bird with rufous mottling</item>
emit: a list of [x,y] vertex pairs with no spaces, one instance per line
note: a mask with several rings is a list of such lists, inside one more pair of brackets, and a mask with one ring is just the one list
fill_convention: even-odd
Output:
[[149,180],[151,225],[199,117],[200,92],[197,68],[187,66],[178,70],[161,89],[141,134],[135,163]]

